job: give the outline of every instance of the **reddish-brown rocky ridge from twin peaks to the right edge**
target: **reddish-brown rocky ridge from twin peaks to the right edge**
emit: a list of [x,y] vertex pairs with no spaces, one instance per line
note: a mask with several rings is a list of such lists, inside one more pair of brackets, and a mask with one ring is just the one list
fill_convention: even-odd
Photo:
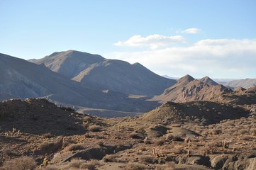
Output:
[[160,103],[188,102],[188,101],[216,101],[220,103],[255,103],[253,89],[237,88],[235,91],[226,88],[208,77],[197,80],[186,75],[177,81],[177,84],[170,86],[159,96],[150,99]]

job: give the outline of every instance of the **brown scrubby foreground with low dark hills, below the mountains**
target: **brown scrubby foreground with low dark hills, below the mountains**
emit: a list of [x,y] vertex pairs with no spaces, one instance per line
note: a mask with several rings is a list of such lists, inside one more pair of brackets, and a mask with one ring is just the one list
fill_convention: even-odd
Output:
[[43,98],[2,101],[0,166],[255,169],[256,90],[223,95],[229,100],[169,101],[143,115],[108,119]]

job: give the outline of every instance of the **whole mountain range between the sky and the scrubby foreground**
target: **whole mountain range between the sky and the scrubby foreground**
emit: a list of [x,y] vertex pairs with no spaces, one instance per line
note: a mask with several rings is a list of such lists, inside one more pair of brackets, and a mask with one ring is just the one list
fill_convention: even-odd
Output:
[[0,71],[0,100],[47,98],[104,117],[138,115],[168,101],[248,100],[233,97],[245,89],[233,92],[209,77],[167,79],[139,63],[74,50],[29,61],[0,54]]

